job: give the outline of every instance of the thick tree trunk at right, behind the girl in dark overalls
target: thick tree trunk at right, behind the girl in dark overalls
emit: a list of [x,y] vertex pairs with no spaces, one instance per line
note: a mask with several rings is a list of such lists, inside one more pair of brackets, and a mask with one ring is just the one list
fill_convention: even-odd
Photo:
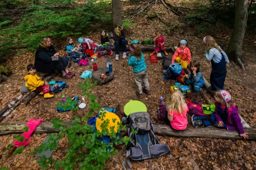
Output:
[[235,25],[228,43],[227,56],[245,70],[242,63],[242,44],[248,19],[248,0],[236,0]]

